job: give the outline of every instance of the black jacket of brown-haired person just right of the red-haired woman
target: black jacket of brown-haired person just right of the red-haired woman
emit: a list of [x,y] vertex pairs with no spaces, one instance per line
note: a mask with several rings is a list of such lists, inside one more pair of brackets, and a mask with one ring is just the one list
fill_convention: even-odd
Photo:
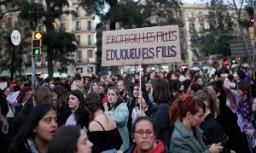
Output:
[[204,140],[207,145],[218,144],[224,137],[224,131],[212,113],[201,123],[201,129],[204,131]]

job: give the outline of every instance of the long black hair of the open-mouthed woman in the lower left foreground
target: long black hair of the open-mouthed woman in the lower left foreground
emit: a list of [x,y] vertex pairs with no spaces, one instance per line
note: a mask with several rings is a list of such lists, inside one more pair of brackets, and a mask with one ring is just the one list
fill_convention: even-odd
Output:
[[48,111],[54,110],[52,105],[37,105],[27,116],[26,121],[20,127],[19,133],[16,134],[13,144],[9,148],[9,152],[15,152],[26,142],[26,139],[34,139],[34,129],[38,126],[38,122],[47,114]]

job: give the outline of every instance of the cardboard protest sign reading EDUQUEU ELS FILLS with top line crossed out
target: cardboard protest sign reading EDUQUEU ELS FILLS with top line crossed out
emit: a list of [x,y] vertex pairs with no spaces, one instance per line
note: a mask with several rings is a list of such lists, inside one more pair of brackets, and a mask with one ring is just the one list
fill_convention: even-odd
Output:
[[180,60],[178,26],[102,33],[102,66],[163,64]]

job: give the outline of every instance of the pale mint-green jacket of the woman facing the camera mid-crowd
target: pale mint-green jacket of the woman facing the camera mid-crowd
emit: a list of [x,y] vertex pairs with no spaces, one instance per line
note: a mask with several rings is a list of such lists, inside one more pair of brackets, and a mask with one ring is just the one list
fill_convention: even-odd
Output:
[[[118,102],[117,102],[118,103]],[[116,125],[119,129],[119,133],[122,137],[123,144],[120,149],[117,150],[128,150],[130,147],[129,132],[127,128],[127,122],[129,117],[128,107],[125,103],[119,104],[114,111],[108,111],[107,103],[104,104],[105,113],[113,117]]]

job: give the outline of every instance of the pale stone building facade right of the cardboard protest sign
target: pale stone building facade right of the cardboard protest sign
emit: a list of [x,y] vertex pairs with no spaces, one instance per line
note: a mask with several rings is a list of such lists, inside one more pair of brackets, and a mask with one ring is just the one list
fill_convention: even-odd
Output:
[[[212,55],[206,57],[201,54],[200,47],[197,40],[200,37],[207,35],[207,30],[210,28],[209,23],[209,5],[206,4],[186,4],[182,6],[183,21],[185,28],[186,37],[186,47],[187,56],[185,57],[185,62],[191,67],[194,65],[204,65],[204,63],[212,63],[213,61],[219,61],[219,59]],[[234,24],[233,28],[235,31],[239,31],[239,25],[236,21],[236,11],[235,9],[228,9],[227,12],[231,16],[231,20]],[[246,14],[242,11],[241,16],[244,17]],[[233,17],[233,18],[232,18]],[[234,36],[238,35],[239,32],[234,33]]]

